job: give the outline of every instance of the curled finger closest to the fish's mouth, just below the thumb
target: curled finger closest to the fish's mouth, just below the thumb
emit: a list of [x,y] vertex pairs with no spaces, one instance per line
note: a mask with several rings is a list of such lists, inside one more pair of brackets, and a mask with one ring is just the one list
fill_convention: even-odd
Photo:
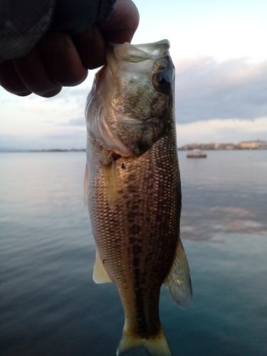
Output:
[[72,38],[85,68],[94,69],[105,64],[105,40],[99,28],[92,26]]

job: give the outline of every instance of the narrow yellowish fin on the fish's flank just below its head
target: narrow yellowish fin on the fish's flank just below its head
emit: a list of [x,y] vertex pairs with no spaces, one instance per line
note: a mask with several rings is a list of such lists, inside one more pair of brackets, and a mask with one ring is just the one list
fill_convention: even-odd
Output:
[[110,211],[113,212],[117,198],[117,173],[114,159],[111,157],[109,164],[102,164],[105,186],[107,188],[108,204],[110,205]]

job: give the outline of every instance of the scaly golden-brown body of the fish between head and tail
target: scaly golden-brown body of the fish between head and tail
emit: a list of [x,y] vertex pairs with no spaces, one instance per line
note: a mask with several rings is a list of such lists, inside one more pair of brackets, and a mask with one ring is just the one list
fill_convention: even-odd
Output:
[[[93,187],[90,187],[90,216],[100,258],[117,284],[132,331],[140,335],[150,335],[150,330],[158,333],[160,324],[155,305],[158,305],[159,289],[172,266],[177,244],[179,177],[177,169],[167,169],[167,162],[173,166],[175,159],[170,145],[176,147],[175,141],[166,136],[140,157],[121,157],[115,161],[118,192],[113,212],[108,204],[103,173],[96,172]],[[94,152],[93,147],[91,152]],[[174,184],[177,194],[172,194]],[[101,216],[106,216],[105,224]],[[164,265],[159,266],[159,254]],[[122,267],[117,266],[117,261]],[[134,283],[132,288],[126,289],[129,278]],[[147,298],[145,286],[149,283],[155,290],[150,290]],[[150,313],[147,312],[144,319],[142,314],[136,323],[136,315],[140,310],[147,310],[151,303]]]

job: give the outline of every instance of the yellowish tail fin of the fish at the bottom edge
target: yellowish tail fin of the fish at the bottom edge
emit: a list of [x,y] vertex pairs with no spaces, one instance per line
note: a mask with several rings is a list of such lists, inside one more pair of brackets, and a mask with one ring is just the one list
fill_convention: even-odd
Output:
[[138,337],[137,335],[133,336],[126,330],[123,330],[120,344],[117,347],[117,356],[135,347],[145,347],[147,354],[150,356],[172,356],[163,329],[160,330],[156,337],[147,339]]

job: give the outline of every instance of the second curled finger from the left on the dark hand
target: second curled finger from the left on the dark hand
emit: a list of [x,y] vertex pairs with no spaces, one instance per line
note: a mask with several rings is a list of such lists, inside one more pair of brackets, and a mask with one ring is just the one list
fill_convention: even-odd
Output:
[[61,85],[54,83],[48,77],[36,48],[33,48],[27,56],[14,59],[13,64],[22,83],[32,93],[50,98],[61,91]]

